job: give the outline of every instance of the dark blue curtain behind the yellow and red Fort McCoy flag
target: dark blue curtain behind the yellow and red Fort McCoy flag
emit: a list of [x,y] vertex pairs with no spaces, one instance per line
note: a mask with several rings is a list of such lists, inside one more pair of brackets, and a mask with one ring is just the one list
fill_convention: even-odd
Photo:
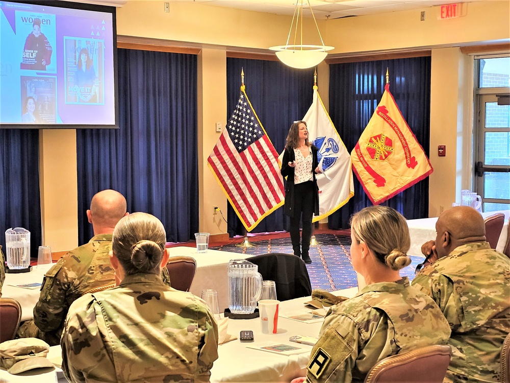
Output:
[[[430,57],[332,64],[329,66],[329,112],[347,150],[352,151],[367,126],[386,84],[407,125],[429,155]],[[428,177],[384,203],[407,219],[428,217]],[[328,217],[330,229],[349,227],[349,218],[372,203],[354,175],[354,197]]]

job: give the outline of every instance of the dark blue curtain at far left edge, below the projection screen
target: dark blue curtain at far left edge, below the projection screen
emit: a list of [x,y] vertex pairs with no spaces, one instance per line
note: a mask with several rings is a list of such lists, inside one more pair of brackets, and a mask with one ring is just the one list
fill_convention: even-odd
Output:
[[39,192],[39,130],[0,129],[0,245],[5,231],[23,227],[30,231],[31,256],[41,245]]

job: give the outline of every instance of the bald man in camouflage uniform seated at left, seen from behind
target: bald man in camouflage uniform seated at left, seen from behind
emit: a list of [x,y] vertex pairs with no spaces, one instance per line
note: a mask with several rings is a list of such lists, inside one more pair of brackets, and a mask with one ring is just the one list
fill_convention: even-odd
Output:
[[[34,307],[34,320],[20,326],[19,337],[36,337],[50,346],[60,344],[71,303],[87,293],[115,285],[109,257],[112,234],[117,222],[127,214],[126,200],[115,190],[102,190],[94,195],[87,210],[94,236],[85,245],[62,256],[45,274],[39,301]],[[162,278],[169,284],[166,268],[163,268]]]

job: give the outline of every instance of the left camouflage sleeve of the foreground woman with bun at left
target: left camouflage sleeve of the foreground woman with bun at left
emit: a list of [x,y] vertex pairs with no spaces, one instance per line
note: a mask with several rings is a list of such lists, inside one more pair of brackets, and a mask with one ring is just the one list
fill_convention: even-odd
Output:
[[71,304],[60,344],[67,380],[85,382],[90,376],[96,381],[116,380],[108,329],[92,295]]

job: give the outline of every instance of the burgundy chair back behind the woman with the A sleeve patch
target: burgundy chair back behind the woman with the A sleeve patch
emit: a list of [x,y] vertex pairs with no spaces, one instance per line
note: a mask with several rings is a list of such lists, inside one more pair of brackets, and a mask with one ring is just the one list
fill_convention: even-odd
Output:
[[451,348],[444,345],[420,347],[388,356],[369,371],[365,383],[442,383],[450,364]]

